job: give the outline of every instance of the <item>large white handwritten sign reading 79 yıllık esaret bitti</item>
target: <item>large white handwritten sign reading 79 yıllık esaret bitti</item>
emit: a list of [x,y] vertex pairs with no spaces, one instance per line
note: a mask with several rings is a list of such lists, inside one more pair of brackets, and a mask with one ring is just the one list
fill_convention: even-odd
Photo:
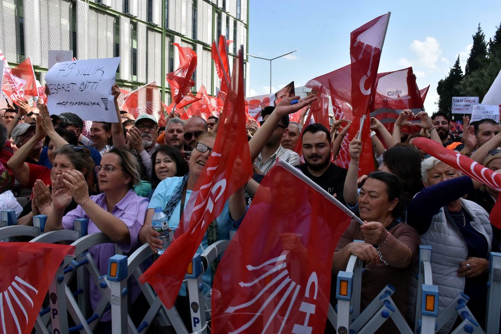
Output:
[[45,76],[51,114],[73,112],[83,120],[116,122],[111,86],[120,57],[56,63]]

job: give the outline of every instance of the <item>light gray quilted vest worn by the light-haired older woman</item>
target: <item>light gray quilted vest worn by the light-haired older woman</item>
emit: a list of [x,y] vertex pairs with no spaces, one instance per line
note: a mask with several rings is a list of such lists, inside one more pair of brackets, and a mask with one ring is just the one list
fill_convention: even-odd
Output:
[[[471,200],[460,199],[461,206],[471,216],[471,226],[485,236],[488,251],[491,249],[492,227],[489,214],[480,205]],[[460,262],[468,258],[466,242],[457,226],[447,221],[445,211],[440,211],[431,218],[431,224],[426,233],[421,235],[421,244],[432,247],[431,272],[433,285],[438,285],[438,314],[449,305],[452,300],[464,290],[464,277],[457,277]],[[409,307],[407,316],[414,321],[417,297],[417,264],[414,267],[409,284]],[[449,320],[439,333],[447,333],[454,324],[456,317]]]

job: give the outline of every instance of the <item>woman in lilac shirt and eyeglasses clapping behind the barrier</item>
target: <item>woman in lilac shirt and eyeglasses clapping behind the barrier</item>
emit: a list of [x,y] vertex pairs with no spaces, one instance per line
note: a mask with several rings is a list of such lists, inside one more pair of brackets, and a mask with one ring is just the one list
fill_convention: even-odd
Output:
[[[55,160],[56,162],[56,160]],[[89,196],[84,174],[76,169],[58,174],[53,182],[52,212],[47,217],[46,230],[72,229],[73,220],[88,218],[88,233],[103,232],[116,242],[123,252],[131,252],[138,246],[138,234],[143,224],[148,199],[132,191],[139,178],[136,157],[124,148],[112,148],[96,166],[99,188],[103,193]],[[64,214],[74,199],[78,206]],[[101,274],[105,274],[108,259],[115,254],[115,245],[101,244],[89,248]],[[136,283],[137,284],[137,283]],[[95,309],[101,294],[95,282],[90,283],[91,303]],[[137,285],[131,287],[131,300],[139,295]],[[106,313],[102,322],[111,322]],[[101,324],[106,327],[109,324]],[[111,330],[110,330],[111,331]],[[102,332],[107,332],[102,329]]]

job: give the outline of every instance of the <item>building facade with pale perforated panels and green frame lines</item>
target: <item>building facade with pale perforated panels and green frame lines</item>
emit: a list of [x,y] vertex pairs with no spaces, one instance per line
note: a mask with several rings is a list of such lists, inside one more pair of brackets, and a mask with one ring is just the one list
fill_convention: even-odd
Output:
[[[210,56],[220,34],[233,40],[232,64],[240,44],[248,46],[249,0],[2,0],[0,50],[11,67],[30,57],[37,78],[45,83],[48,50],[73,50],[77,59],[120,56],[117,83],[133,90],[156,81],[164,102],[170,101],[165,73],[179,59],[173,42],[198,56],[193,79],[214,95],[220,86]],[[249,66],[245,61],[245,90]]]

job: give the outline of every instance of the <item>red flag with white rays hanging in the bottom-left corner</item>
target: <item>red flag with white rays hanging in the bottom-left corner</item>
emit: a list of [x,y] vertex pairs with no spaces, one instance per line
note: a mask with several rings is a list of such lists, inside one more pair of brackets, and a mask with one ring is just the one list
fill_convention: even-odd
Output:
[[75,246],[0,242],[0,333],[31,333],[49,285]]

